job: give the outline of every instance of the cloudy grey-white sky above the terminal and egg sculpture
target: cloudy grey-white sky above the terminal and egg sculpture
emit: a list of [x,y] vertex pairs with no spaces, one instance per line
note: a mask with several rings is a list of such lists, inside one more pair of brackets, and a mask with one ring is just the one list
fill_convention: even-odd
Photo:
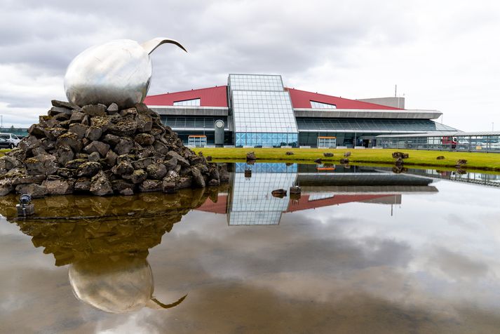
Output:
[[0,0],[0,114],[29,126],[65,99],[78,53],[166,36],[149,94],[219,86],[229,73],[344,98],[405,96],[464,131],[500,128],[499,1]]

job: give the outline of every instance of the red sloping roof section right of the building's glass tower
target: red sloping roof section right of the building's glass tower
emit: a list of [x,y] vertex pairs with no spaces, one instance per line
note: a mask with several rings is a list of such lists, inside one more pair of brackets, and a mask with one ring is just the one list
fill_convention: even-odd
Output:
[[318,94],[306,91],[299,91],[295,88],[287,88],[292,98],[292,105],[294,108],[308,108],[311,109],[311,101],[327,103],[329,105],[336,105],[337,109],[393,109],[402,110],[400,108],[387,107],[385,105],[376,105],[370,102],[363,102],[358,100],[349,100],[347,98],[337,98],[325,94]]

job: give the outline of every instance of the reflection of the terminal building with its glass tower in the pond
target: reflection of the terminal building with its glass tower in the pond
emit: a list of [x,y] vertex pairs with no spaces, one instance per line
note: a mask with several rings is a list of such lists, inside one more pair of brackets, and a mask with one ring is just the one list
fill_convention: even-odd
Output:
[[[250,178],[245,178],[245,168],[252,168]],[[400,204],[402,194],[438,191],[429,178],[356,166],[236,163],[230,182],[229,192],[219,193],[217,203],[208,200],[196,210],[227,214],[228,225],[278,225],[283,213],[352,202]],[[271,195],[294,183],[302,188],[299,199]]]

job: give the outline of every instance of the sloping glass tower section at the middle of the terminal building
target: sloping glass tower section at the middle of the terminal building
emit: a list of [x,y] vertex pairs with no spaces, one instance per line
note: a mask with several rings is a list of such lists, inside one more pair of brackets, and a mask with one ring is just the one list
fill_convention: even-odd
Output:
[[229,74],[236,146],[297,146],[290,94],[279,75]]

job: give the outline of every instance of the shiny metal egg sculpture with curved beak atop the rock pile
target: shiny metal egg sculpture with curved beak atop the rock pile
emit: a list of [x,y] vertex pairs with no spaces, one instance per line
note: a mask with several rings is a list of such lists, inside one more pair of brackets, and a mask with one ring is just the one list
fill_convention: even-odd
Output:
[[173,39],[158,37],[139,44],[130,39],[117,39],[92,46],[69,64],[65,74],[65,92],[75,105],[110,105],[121,109],[142,102],[151,82],[149,55],[161,44],[175,44]]

